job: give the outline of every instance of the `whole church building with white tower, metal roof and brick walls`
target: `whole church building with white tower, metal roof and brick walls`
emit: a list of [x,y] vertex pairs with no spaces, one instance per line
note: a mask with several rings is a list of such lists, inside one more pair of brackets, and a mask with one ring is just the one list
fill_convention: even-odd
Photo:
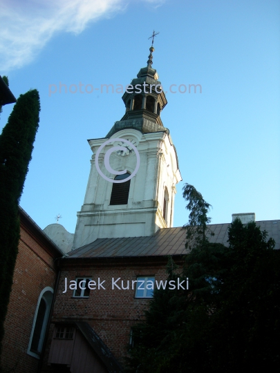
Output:
[[[131,327],[144,321],[153,289],[189,287],[187,279],[166,282],[167,256],[180,266],[187,250],[185,231],[173,227],[182,178],[160,118],[167,99],[152,68],[153,50],[122,96],[122,119],[105,137],[88,140],[91,171],[75,234],[60,224],[41,231],[21,213],[34,242],[23,231],[19,252],[29,247],[32,255],[25,254],[29,267],[26,256],[19,256],[15,269],[6,320],[10,350],[2,357],[7,370],[15,365],[9,362],[12,333],[24,323],[12,315],[17,302],[24,305],[26,323],[17,339],[16,372],[120,373],[133,341]],[[254,220],[254,214],[237,216],[244,223]],[[280,249],[280,220],[257,223]],[[227,245],[228,226],[212,224],[209,240]],[[19,287],[19,274],[21,283],[33,279],[36,291]]]

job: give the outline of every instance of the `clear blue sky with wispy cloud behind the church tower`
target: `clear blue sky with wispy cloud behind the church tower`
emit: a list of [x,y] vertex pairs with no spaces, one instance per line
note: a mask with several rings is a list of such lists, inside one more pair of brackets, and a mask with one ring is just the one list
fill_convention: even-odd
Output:
[[[86,140],[104,137],[124,104],[118,93],[59,93],[59,82],[126,86],[146,66],[154,29],[153,68],[165,90],[202,86],[168,92],[161,115],[183,177],[174,227],[188,220],[185,182],[212,204],[213,223],[246,212],[280,219],[279,10],[277,0],[1,1],[0,74],[16,97],[37,88],[41,98],[21,207],[42,229],[60,213],[75,231],[90,171]],[[3,107],[1,128],[11,111]]]

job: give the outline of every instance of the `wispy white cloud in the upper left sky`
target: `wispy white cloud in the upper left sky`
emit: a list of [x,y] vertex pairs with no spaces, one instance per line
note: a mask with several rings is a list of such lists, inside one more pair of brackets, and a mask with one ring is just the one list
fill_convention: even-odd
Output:
[[4,74],[32,61],[55,32],[79,34],[90,21],[112,17],[124,10],[129,0],[0,2],[0,66]]

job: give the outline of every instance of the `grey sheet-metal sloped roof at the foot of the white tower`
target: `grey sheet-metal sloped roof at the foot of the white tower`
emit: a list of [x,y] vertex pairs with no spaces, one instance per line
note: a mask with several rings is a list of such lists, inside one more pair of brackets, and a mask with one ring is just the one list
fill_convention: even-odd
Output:
[[[256,222],[262,231],[268,232],[268,238],[274,238],[275,249],[280,249],[280,220]],[[215,233],[210,242],[228,246],[227,228],[230,223],[209,224]],[[97,238],[68,253],[69,258],[113,258],[133,256],[165,256],[187,254],[185,249],[186,232],[181,227],[159,229],[153,236],[129,238]]]

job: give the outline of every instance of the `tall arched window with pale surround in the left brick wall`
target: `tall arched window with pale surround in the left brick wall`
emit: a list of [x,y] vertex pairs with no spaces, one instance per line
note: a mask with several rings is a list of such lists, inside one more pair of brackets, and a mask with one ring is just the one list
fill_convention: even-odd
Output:
[[53,289],[51,287],[45,287],[38,298],[27,349],[28,355],[36,358],[40,357],[43,347],[52,300]]

